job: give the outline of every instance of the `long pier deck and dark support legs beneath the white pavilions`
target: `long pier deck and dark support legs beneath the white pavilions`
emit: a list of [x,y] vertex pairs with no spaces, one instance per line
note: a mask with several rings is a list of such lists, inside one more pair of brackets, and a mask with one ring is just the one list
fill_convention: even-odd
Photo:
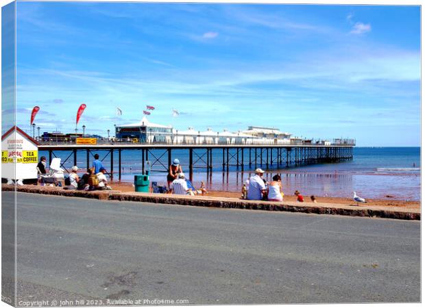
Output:
[[[138,151],[141,157],[141,170],[147,170],[147,162],[151,172],[168,172],[172,162],[173,151],[186,150],[189,152],[189,179],[193,179],[193,170],[204,169],[207,173],[213,171],[213,151],[221,153],[222,170],[244,168],[285,168],[306,164],[322,164],[341,162],[353,158],[354,140],[339,140],[332,144],[164,144],[164,143],[130,143],[106,142],[104,144],[69,144],[40,142],[38,151],[49,153],[49,164],[58,152],[69,155],[61,162],[62,168],[66,162],[77,165],[77,157],[84,155],[86,168],[93,162],[95,153],[100,160],[110,160],[110,178],[118,175],[121,181],[122,151]],[[101,152],[98,152],[101,151]],[[155,152],[154,152],[155,151]],[[102,156],[103,154],[103,156]],[[217,157],[217,155],[216,155]],[[216,162],[217,164],[217,162]],[[114,171],[117,167],[118,172]]]

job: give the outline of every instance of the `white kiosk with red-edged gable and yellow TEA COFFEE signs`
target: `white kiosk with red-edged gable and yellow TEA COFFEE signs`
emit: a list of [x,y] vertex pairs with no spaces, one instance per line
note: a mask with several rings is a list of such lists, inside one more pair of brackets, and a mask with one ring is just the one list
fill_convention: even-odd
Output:
[[24,131],[16,127],[1,137],[1,177],[36,179],[38,146]]

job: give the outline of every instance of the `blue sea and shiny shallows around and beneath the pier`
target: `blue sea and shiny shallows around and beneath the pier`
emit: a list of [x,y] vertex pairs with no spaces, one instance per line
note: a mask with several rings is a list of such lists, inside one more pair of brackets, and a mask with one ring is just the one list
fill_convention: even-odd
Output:
[[[221,149],[213,150],[213,170],[206,172],[205,151],[196,150],[193,162],[193,185],[195,187],[204,181],[209,190],[224,190],[240,192],[243,183],[254,175],[255,166],[249,166],[247,150],[244,155],[244,170],[230,166],[223,170]],[[108,151],[97,151],[104,166],[110,170],[110,155]],[[230,151],[230,156],[234,153]],[[40,152],[40,156],[47,152]],[[73,155],[70,151],[56,151],[55,155],[62,159],[64,167],[73,166]],[[276,154],[275,154],[276,155]],[[337,163],[312,164],[304,166],[269,165],[263,168],[265,179],[271,180],[273,175],[282,177],[282,188],[285,194],[293,194],[299,190],[304,196],[334,196],[350,197],[355,191],[363,198],[383,198],[404,201],[420,201],[421,166],[420,147],[354,147],[353,159]],[[106,157],[105,157],[106,156]],[[53,156],[54,157],[54,156]],[[254,157],[254,155],[252,155]],[[180,159],[183,171],[189,175],[189,151],[173,150],[172,159]],[[93,156],[90,155],[90,161]],[[157,160],[158,159],[158,160]],[[264,158],[265,159],[265,158]],[[141,151],[124,150],[121,154],[121,181],[132,183],[134,175],[141,175]],[[150,181],[158,185],[167,185],[167,153],[155,150],[149,153]],[[77,154],[77,166],[86,168],[86,152]],[[114,179],[118,179],[118,153],[114,153]],[[149,168],[149,164],[145,164]],[[113,186],[113,182],[112,182]]]

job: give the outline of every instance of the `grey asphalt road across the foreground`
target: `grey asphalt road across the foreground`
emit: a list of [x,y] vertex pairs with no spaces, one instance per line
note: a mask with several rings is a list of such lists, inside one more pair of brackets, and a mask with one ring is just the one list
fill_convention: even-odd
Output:
[[420,301],[415,221],[19,193],[17,243],[21,305]]

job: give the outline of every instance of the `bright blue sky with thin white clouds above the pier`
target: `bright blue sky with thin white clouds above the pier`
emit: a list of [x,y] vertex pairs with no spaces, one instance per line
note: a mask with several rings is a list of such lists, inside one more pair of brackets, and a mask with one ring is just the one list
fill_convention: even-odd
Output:
[[420,144],[417,6],[19,2],[17,50],[26,129],[39,105],[41,131],[71,131],[86,103],[106,135],[148,104],[178,129]]

